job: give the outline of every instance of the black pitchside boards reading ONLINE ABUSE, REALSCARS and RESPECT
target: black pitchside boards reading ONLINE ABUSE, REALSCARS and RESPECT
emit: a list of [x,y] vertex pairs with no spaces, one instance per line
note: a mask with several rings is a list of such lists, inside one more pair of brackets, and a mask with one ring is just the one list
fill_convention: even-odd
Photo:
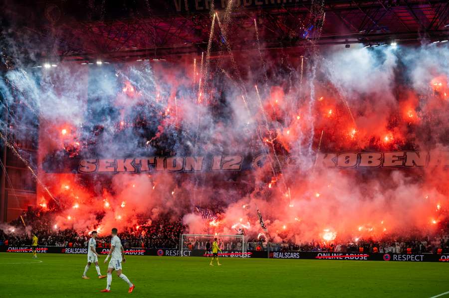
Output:
[[[0,246],[0,252],[7,253],[31,253],[30,246]],[[97,253],[107,255],[109,249],[97,248]],[[56,247],[39,246],[37,253],[41,254],[83,254],[87,255],[87,248],[78,247]],[[177,249],[148,249],[130,248],[125,249],[125,255],[131,256],[160,256],[180,257],[181,252]],[[206,250],[184,250],[183,257],[210,257],[212,252]],[[223,251],[219,254],[222,258],[240,258],[241,251]],[[271,259],[304,259],[304,260],[346,260],[346,261],[384,261],[384,262],[447,262],[449,254],[393,254],[393,253],[328,253],[328,252],[270,252],[251,251],[244,253],[245,258],[271,258]]]

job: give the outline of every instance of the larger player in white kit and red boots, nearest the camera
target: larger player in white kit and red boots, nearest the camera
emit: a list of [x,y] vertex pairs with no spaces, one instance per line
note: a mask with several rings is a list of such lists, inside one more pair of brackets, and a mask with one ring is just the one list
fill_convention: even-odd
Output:
[[111,249],[109,250],[109,254],[104,260],[106,263],[111,257],[111,261],[108,265],[108,276],[106,279],[106,289],[101,290],[100,292],[111,292],[111,282],[112,282],[112,271],[116,271],[117,276],[121,278],[125,283],[128,284],[129,290],[128,293],[133,292],[134,285],[129,281],[126,275],[122,274],[122,263],[126,262],[125,259],[125,250],[123,249],[122,242],[117,237],[117,229],[112,229],[112,239],[111,239]]

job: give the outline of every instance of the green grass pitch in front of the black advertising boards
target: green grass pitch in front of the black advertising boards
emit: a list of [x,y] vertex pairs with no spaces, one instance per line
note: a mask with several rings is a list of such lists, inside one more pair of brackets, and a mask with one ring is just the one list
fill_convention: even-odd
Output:
[[[101,273],[106,273],[104,256]],[[446,263],[272,260],[221,258],[222,267],[200,257],[127,256],[115,273],[112,292],[99,293],[106,279],[81,279],[85,255],[0,254],[0,297],[431,297],[449,291]],[[449,298],[449,295],[447,296]]]

